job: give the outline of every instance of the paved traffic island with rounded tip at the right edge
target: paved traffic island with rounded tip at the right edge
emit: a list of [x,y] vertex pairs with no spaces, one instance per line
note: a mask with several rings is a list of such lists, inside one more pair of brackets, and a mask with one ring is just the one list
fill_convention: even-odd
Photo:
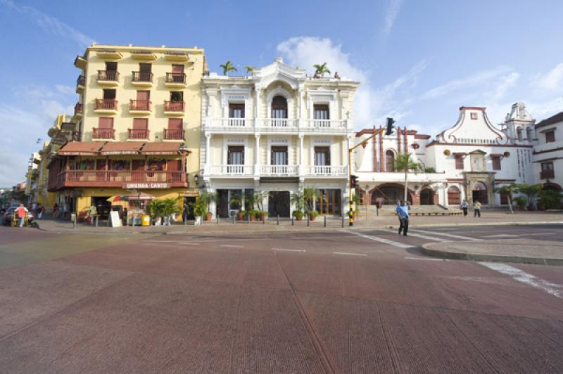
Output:
[[429,243],[422,252],[444,259],[563,266],[563,244],[555,241],[512,239]]

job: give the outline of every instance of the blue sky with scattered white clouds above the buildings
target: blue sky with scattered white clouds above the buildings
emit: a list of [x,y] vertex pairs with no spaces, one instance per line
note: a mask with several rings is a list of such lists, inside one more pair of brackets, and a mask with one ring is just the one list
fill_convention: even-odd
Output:
[[[327,62],[362,83],[355,127],[435,135],[461,105],[502,122],[523,101],[538,120],[563,110],[563,1],[0,0],[0,187],[22,181],[37,138],[72,112],[72,62],[99,44],[201,46],[211,71],[275,56],[312,72]],[[150,15],[146,18],[145,15]],[[144,21],[146,20],[146,21]]]

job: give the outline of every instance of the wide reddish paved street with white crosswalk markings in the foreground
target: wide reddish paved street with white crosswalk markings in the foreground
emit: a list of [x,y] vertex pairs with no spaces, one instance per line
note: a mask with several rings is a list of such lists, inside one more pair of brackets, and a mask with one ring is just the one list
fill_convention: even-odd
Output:
[[503,238],[563,230],[0,228],[0,371],[561,373],[563,267],[420,250]]

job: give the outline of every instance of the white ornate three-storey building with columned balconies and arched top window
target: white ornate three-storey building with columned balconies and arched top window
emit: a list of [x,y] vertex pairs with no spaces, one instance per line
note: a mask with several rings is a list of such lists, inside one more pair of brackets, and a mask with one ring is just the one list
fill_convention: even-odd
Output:
[[341,214],[357,87],[308,77],[281,58],[249,77],[204,77],[201,172],[204,188],[218,195],[211,212],[227,217],[250,209],[243,197],[267,191],[264,210],[289,217],[291,194],[315,188],[316,209]]

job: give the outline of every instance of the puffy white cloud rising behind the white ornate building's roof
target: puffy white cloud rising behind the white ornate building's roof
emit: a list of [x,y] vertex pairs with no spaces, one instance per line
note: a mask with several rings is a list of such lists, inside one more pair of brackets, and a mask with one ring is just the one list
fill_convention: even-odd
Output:
[[350,55],[343,52],[342,46],[334,44],[331,39],[293,37],[281,42],[277,50],[289,65],[305,68],[311,74],[312,65],[326,62],[333,74],[337,71],[343,78],[360,82],[354,101],[354,122],[357,129],[371,127],[374,121],[382,123],[388,116],[396,119],[405,117],[410,112],[404,108],[403,101],[406,99],[401,100],[397,96],[407,95],[406,91],[415,86],[427,65],[426,60],[422,60],[405,75],[381,89],[375,89],[369,82],[369,72],[354,65],[350,61]]

